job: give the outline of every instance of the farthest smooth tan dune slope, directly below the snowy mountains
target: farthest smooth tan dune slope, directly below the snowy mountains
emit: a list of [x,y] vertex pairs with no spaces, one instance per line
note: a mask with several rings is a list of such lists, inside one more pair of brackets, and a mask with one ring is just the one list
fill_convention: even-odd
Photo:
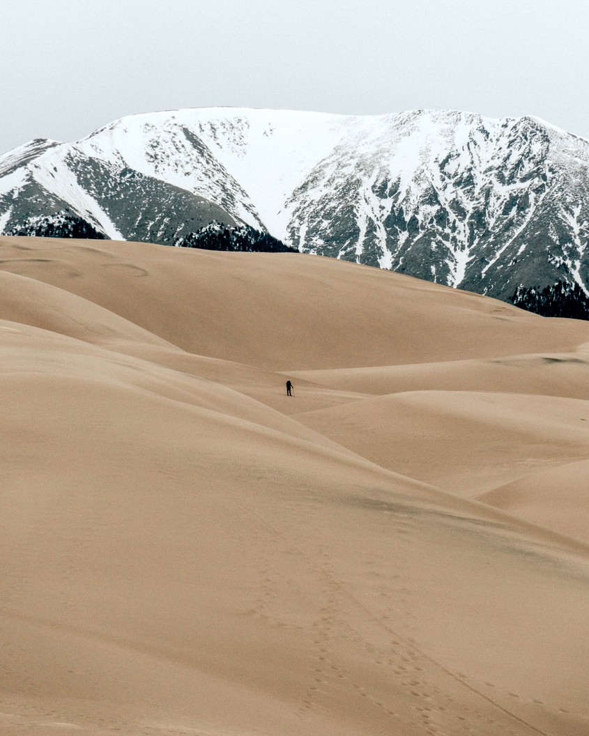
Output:
[[319,256],[174,248],[164,257],[150,244],[88,243],[0,238],[0,269],[77,294],[191,353],[266,369],[568,352],[589,337],[576,322]]

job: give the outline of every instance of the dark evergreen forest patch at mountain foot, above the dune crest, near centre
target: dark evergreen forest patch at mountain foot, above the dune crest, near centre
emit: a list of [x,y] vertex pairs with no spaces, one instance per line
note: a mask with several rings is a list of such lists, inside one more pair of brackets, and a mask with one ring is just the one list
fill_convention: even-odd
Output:
[[188,233],[174,242],[180,248],[202,248],[204,250],[230,250],[257,253],[297,253],[296,248],[285,245],[268,233],[260,233],[253,227],[227,227],[214,223],[197,233]]

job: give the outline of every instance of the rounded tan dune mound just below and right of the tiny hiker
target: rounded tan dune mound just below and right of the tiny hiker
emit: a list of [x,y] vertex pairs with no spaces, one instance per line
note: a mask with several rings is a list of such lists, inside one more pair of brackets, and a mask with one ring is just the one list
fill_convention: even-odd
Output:
[[[589,457],[589,402],[578,399],[416,391],[296,417],[383,467],[465,498]],[[585,525],[589,534],[589,517]]]

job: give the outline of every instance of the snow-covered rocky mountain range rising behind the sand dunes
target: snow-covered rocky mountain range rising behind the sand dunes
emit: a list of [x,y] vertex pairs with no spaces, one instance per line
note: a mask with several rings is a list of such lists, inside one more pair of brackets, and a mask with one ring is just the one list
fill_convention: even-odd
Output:
[[173,244],[211,222],[509,299],[589,294],[589,141],[537,118],[210,108],[0,157],[0,233]]

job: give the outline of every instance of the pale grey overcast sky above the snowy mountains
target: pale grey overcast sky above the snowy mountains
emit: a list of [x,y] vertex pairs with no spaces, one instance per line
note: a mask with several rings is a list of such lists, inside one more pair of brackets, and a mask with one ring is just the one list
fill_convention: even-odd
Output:
[[535,115],[589,138],[586,0],[4,0],[0,152],[180,107]]

